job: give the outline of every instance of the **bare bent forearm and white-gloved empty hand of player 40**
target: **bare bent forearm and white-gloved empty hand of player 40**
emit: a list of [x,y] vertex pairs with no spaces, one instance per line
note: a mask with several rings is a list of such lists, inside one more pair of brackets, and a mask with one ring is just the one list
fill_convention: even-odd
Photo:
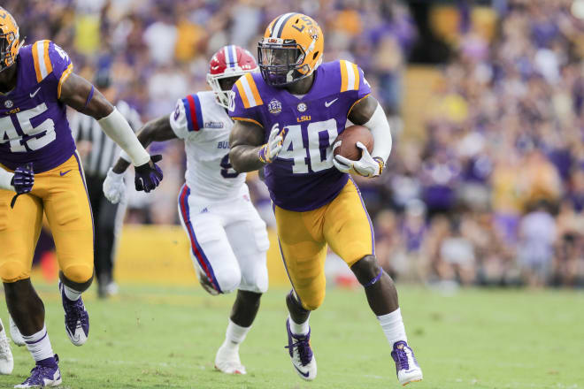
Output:
[[264,143],[264,128],[254,123],[235,120],[229,135],[229,160],[236,172],[253,172],[270,164],[280,153],[288,129],[276,123]]

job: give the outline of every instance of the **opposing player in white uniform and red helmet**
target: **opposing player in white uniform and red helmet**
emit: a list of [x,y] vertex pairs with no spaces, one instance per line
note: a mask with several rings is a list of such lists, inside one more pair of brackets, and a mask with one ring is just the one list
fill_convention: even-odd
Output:
[[[237,289],[226,339],[215,357],[215,367],[229,374],[246,373],[239,345],[268,286],[265,223],[250,202],[245,174],[235,172],[229,163],[231,88],[243,74],[257,69],[249,51],[234,45],[222,48],[211,58],[207,74],[212,91],[179,100],[173,113],[150,121],[137,133],[144,147],[151,141],[185,141],[187,182],[179,194],[179,214],[193,263],[210,294]],[[111,202],[119,202],[124,195],[122,174],[127,160],[121,155],[104,181],[104,195]]]

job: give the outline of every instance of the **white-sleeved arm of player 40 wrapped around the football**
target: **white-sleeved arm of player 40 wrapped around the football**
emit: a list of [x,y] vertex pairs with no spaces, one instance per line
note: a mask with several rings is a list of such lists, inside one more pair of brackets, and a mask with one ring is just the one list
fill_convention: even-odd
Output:
[[392,143],[388,118],[383,108],[373,95],[367,95],[355,104],[348,118],[356,125],[369,128],[373,134],[373,151],[370,154],[365,145],[357,142],[357,147],[363,151],[361,159],[351,161],[343,156],[335,156],[334,166],[341,172],[356,172],[365,177],[379,176],[388,160]]

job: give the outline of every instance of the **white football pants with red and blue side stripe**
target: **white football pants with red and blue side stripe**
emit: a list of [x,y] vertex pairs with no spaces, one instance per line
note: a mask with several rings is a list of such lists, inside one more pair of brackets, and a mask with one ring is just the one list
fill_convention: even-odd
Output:
[[270,243],[247,186],[234,200],[216,202],[192,194],[185,184],[179,215],[199,277],[206,277],[219,294],[235,289],[265,293]]

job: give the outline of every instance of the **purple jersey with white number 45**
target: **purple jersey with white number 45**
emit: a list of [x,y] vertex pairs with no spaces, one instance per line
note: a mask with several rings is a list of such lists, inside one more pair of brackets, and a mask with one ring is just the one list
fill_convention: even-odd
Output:
[[14,170],[32,162],[35,172],[46,172],[75,151],[58,101],[73,64],[55,43],[38,41],[19,50],[16,66],[16,87],[0,94],[0,164]]

